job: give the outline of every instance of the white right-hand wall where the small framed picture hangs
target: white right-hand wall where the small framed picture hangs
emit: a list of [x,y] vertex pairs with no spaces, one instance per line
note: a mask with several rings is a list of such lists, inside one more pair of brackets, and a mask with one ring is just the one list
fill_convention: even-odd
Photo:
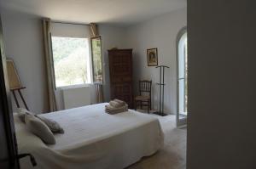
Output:
[[147,48],[158,48],[159,65],[170,66],[165,73],[165,110],[167,114],[176,114],[177,110],[177,66],[176,38],[177,32],[187,25],[186,8],[179,9],[133,25],[126,29],[126,48],[133,48],[134,88],[138,91],[139,79],[152,79],[154,109],[158,109],[160,70],[148,66]]

